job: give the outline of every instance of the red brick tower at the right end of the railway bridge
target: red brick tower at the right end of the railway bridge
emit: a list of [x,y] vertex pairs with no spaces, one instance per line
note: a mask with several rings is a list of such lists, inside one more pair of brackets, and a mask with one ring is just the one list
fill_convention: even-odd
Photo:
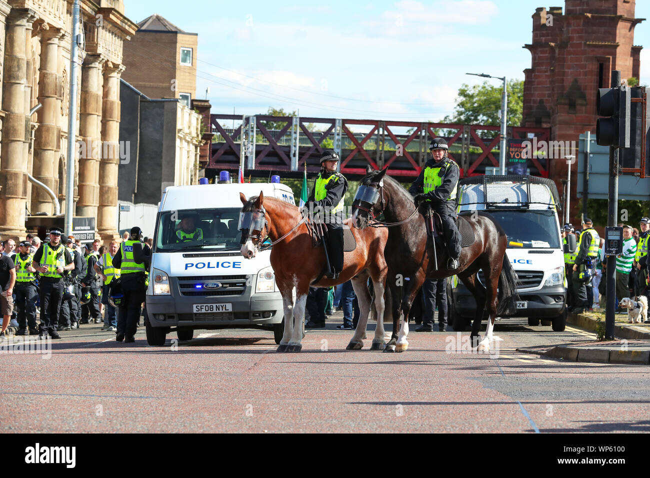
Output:
[[[566,0],[562,7],[537,8],[532,16],[532,55],[526,68],[523,126],[551,127],[552,140],[575,140],[596,129],[596,90],[608,88],[612,70],[621,78],[639,78],[639,53],[634,46],[635,0]],[[580,158],[577,158],[580,160]],[[566,161],[549,160],[549,176],[562,191]],[[577,178],[578,163],[571,165]],[[575,180],[571,196],[576,197]],[[571,218],[579,217],[577,201]]]

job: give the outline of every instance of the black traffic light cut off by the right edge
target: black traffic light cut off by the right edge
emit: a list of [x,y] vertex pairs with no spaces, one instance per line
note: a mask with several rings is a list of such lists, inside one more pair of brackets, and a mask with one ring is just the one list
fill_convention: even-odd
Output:
[[634,174],[641,178],[650,176],[650,161],[646,161],[648,152],[647,135],[650,118],[647,117],[647,97],[645,86],[630,88],[630,147],[621,148],[619,164],[623,174]]

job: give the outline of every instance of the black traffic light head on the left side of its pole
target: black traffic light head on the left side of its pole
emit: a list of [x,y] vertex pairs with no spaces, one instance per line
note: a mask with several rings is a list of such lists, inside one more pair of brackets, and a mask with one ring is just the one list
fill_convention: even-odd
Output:
[[598,88],[596,97],[596,142],[601,146],[630,146],[630,88]]

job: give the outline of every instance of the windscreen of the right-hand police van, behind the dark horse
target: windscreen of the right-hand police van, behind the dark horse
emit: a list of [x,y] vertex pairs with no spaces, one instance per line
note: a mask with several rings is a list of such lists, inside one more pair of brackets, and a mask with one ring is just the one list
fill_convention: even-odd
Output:
[[560,248],[554,211],[489,211],[508,234],[508,248]]

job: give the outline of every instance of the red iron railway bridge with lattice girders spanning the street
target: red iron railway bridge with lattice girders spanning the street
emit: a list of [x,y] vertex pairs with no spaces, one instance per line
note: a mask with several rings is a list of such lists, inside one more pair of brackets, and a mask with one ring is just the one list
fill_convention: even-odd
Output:
[[[269,122],[278,129],[267,129]],[[334,149],[341,155],[341,172],[348,178],[361,178],[370,165],[376,169],[388,166],[391,176],[408,181],[419,174],[429,142],[437,136],[447,139],[461,178],[486,174],[486,168],[499,166],[499,126],[235,114],[212,114],[211,125],[217,141],[212,143],[207,178],[218,176],[220,170],[234,172],[236,177],[240,160],[246,177],[280,174],[298,178],[305,161],[307,171],[315,174],[320,169],[320,152]],[[407,133],[396,134],[394,129]],[[548,141],[550,129],[508,127],[509,139],[532,137]],[[528,163],[530,174],[549,177],[547,160],[532,158]]]

